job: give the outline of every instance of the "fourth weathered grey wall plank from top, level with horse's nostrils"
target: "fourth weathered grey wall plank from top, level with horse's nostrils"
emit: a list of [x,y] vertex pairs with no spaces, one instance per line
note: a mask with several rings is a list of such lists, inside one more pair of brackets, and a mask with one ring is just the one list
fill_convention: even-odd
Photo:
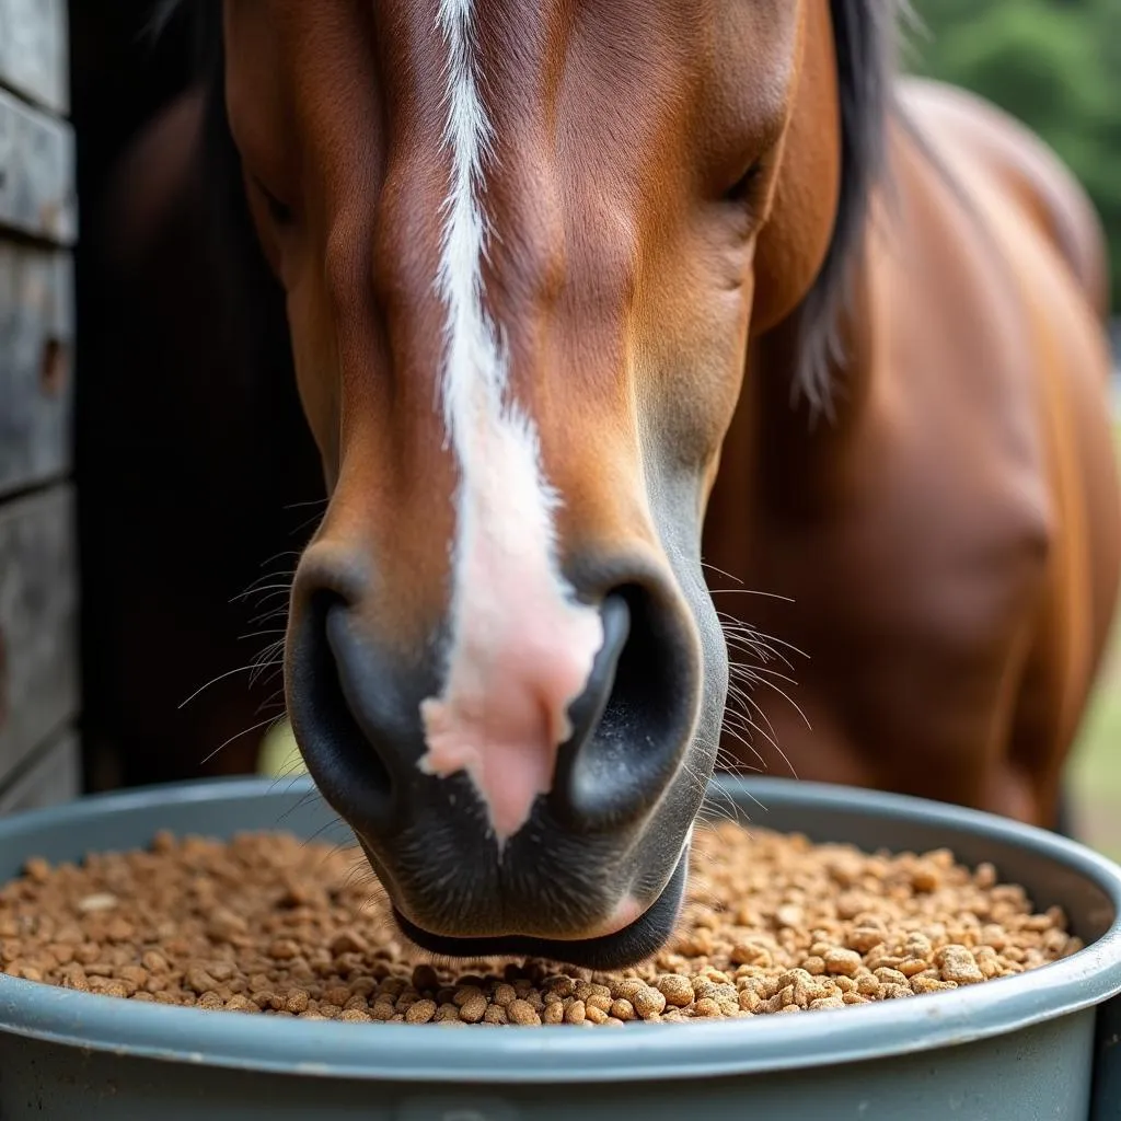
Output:
[[0,776],[77,715],[74,537],[68,483],[0,506]]

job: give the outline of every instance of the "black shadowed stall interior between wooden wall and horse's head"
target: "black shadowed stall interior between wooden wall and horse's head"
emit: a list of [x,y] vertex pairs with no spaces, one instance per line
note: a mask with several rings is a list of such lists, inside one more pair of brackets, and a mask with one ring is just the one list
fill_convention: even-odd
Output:
[[[177,21],[157,45],[151,11],[151,0],[71,4],[94,790],[254,768],[281,711],[268,647],[282,615],[261,617],[285,605],[323,497],[281,297],[232,274],[198,206],[191,29]],[[260,590],[234,600],[250,585]],[[261,673],[245,668],[262,651]]]

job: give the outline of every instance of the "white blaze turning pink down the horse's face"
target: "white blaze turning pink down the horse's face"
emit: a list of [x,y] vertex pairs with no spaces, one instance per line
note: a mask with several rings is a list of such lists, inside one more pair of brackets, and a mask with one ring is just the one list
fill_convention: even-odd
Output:
[[472,0],[441,0],[451,191],[438,290],[446,308],[444,421],[458,464],[451,648],[444,692],[421,704],[428,773],[465,770],[500,844],[552,786],[567,707],[603,641],[557,566],[532,420],[510,399],[508,356],[483,304],[483,173],[493,131],[479,89]]

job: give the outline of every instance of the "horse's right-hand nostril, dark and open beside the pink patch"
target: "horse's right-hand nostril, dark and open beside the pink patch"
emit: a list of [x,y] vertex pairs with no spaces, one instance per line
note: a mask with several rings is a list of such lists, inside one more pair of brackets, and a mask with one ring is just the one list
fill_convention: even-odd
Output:
[[643,587],[612,592],[604,641],[569,708],[552,806],[575,830],[633,821],[657,803],[693,728],[695,670],[676,614]]

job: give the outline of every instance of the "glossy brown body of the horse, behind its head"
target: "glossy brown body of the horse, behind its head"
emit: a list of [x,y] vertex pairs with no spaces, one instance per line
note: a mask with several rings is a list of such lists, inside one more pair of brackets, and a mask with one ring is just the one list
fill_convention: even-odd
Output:
[[812,730],[752,694],[767,770],[1050,826],[1118,584],[1103,241],[991,105],[907,82],[902,108],[835,424],[784,408],[782,340],[760,340],[705,555],[794,601],[741,612],[808,655]]

